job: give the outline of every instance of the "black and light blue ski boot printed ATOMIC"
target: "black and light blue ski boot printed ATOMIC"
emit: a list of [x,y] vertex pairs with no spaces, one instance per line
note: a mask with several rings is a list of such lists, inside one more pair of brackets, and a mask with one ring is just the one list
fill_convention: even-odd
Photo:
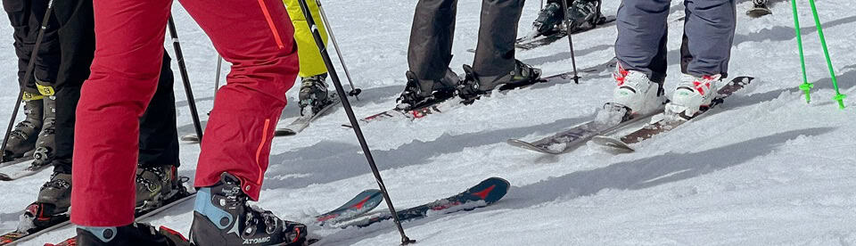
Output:
[[251,208],[241,181],[228,173],[199,189],[190,241],[195,245],[302,245],[306,225],[284,221],[270,211]]

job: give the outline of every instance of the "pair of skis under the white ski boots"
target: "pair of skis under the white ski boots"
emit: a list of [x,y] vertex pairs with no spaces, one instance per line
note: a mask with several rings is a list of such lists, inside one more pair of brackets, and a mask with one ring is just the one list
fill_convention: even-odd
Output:
[[659,113],[633,116],[628,114],[628,111],[624,107],[607,104],[604,110],[597,113],[596,119],[576,127],[571,127],[557,133],[556,135],[547,136],[534,142],[526,142],[520,139],[509,139],[507,143],[534,152],[563,154],[572,152],[583,143],[587,143],[589,140],[592,140],[593,143],[611,148],[618,152],[634,152],[634,144],[650,139],[654,137],[654,135],[669,132],[675,127],[679,127],[682,124],[692,121],[692,119],[698,118],[703,115],[704,112],[721,104],[726,97],[749,85],[752,80],[752,77],[737,77],[732,79],[728,84],[720,87],[717,91],[719,95],[712,101],[711,105],[703,107],[701,111],[698,111],[690,119],[660,119],[652,123],[648,123],[645,127],[642,127],[630,134],[613,137],[609,135],[642,119],[651,119]]

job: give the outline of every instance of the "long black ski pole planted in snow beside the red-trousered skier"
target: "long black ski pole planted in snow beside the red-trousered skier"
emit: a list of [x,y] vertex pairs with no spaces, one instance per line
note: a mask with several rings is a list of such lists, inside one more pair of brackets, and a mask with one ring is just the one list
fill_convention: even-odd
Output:
[[381,191],[383,192],[383,199],[386,201],[386,206],[390,208],[390,212],[392,213],[392,220],[395,221],[395,225],[399,229],[399,234],[401,234],[401,244],[406,245],[416,242],[416,240],[411,240],[407,238],[407,235],[404,234],[404,227],[401,227],[399,216],[395,211],[395,207],[392,206],[390,193],[386,191],[386,185],[383,184],[383,178],[381,178],[381,173],[377,170],[377,165],[374,164],[374,157],[372,157],[371,150],[368,149],[366,137],[363,136],[363,131],[359,128],[359,122],[357,121],[357,117],[354,116],[354,110],[350,107],[350,102],[348,102],[347,95],[345,94],[345,89],[342,87],[342,82],[339,81],[339,76],[336,74],[336,68],[333,66],[333,61],[330,59],[330,54],[327,53],[324,41],[321,39],[321,33],[318,31],[317,25],[312,19],[312,13],[309,12],[309,5],[306,4],[306,0],[299,0],[298,3],[300,4],[300,9],[303,11],[303,16],[306,17],[306,22],[309,25],[309,30],[312,30],[312,37],[315,37],[315,44],[318,45],[318,50],[321,52],[321,58],[324,59],[327,71],[330,73],[330,78],[333,80],[333,86],[336,86],[336,92],[339,94],[339,97],[342,98],[342,107],[345,108],[345,113],[348,115],[350,125],[354,127],[354,133],[357,135],[359,146],[363,149],[363,153],[366,155],[366,160],[368,160],[368,165],[372,168],[374,179],[375,181],[377,181],[377,185],[381,188]]

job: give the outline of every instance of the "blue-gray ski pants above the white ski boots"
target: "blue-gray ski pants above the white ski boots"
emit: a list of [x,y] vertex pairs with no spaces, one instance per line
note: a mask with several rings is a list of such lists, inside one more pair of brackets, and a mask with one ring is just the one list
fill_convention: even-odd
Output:
[[[666,77],[666,39],[671,0],[622,0],[618,8],[615,55],[627,70],[644,72],[653,81]],[[685,0],[680,68],[701,77],[728,76],[734,40],[735,0]]]

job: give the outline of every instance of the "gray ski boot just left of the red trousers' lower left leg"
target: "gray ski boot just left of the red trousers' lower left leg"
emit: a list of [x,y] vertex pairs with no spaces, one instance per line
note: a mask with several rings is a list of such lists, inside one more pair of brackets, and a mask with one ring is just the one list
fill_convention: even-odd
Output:
[[71,207],[71,174],[54,172],[51,180],[42,185],[36,202],[33,202],[21,215],[19,232],[56,225],[69,218]]

